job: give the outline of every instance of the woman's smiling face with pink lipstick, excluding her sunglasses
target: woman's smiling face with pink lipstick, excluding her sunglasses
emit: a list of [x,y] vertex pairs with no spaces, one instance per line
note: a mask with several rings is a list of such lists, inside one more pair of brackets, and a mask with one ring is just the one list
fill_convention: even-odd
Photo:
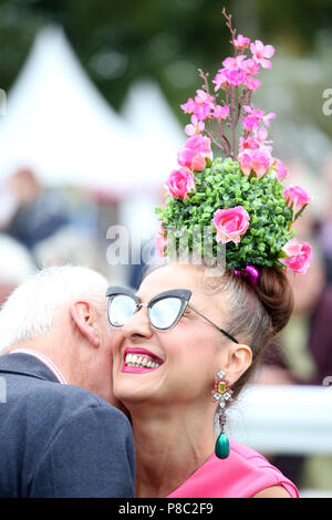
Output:
[[[136,295],[147,303],[164,291],[188,289],[193,292],[190,303],[225,327],[227,305],[220,297],[204,292],[201,277],[203,271],[194,266],[165,266],[148,274]],[[222,368],[228,343],[216,326],[189,308],[175,327],[157,331],[143,306],[114,332],[114,394],[127,405],[206,403],[211,399],[212,383]],[[144,368],[131,366],[135,355],[142,357],[141,362],[146,358]]]

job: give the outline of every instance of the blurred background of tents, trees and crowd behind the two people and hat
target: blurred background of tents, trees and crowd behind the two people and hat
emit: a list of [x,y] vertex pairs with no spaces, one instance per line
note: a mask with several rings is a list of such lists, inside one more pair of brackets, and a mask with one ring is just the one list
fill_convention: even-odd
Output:
[[[238,33],[276,48],[255,106],[277,113],[286,184],[313,197],[298,223],[312,267],[290,277],[295,311],[257,379],[281,419],[259,440],[248,397],[234,427],[303,496],[332,496],[330,0],[0,0],[0,304],[37,269],[68,262],[138,285],[154,207],[186,139],[179,104],[201,86],[197,69],[214,76],[230,53],[224,6]],[[123,245],[128,261],[112,263],[110,248]]]

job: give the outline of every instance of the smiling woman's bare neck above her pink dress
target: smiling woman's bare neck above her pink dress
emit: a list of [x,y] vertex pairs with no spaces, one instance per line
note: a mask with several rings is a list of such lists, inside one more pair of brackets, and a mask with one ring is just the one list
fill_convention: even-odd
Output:
[[212,410],[132,410],[136,497],[167,497],[212,454]]

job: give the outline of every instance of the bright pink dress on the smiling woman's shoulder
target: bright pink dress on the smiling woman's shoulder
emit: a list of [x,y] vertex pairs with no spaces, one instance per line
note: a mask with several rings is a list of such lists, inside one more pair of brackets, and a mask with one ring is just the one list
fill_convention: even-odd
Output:
[[293,482],[264,457],[234,440],[229,446],[226,459],[212,454],[167,498],[251,498],[271,486],[282,486],[292,498],[299,498]]

